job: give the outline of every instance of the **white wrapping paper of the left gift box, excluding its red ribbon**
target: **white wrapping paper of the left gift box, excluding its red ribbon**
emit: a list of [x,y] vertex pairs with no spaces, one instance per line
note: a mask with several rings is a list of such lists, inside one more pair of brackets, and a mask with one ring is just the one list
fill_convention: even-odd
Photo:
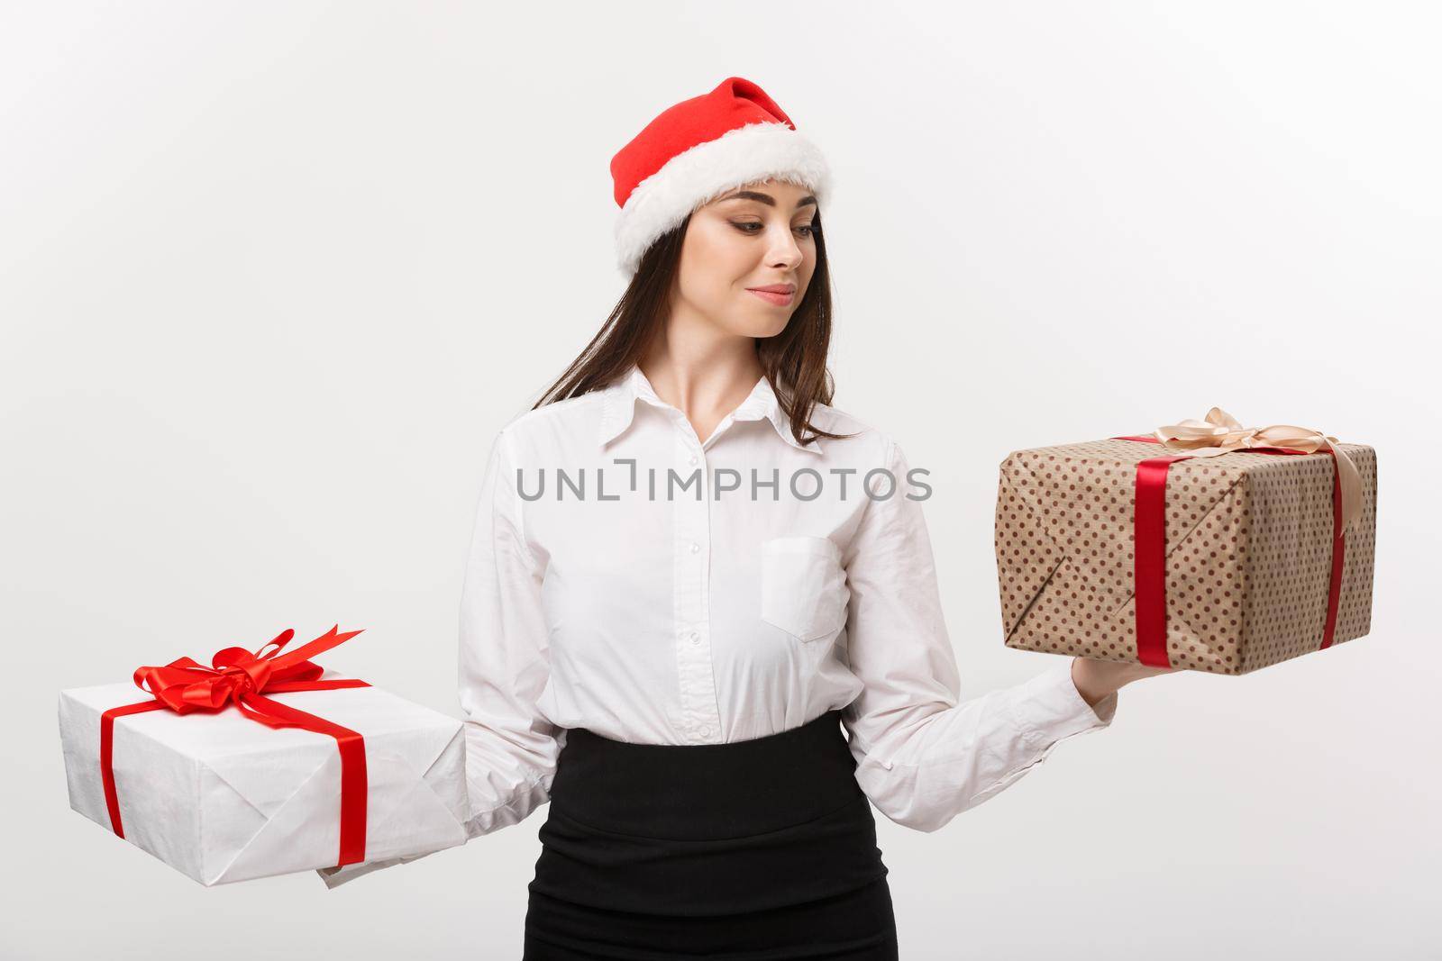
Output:
[[[466,841],[460,720],[378,687],[265,697],[365,739],[366,863]],[[61,692],[71,807],[107,831],[101,713],[141,700],[146,692],[127,683]],[[149,710],[115,719],[111,769],[125,840],[202,885],[339,860],[340,754],[329,735],[270,728],[234,705],[218,713]]]

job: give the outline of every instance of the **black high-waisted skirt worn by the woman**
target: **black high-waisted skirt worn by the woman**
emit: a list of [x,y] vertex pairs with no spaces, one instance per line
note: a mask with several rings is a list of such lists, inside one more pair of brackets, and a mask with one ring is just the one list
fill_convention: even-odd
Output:
[[839,722],[717,745],[570,729],[523,961],[895,961],[877,824]]

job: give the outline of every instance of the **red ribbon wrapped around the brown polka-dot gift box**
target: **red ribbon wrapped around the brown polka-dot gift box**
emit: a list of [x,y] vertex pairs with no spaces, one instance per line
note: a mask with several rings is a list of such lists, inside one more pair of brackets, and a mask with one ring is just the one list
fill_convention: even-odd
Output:
[[[1146,441],[1161,444],[1151,435],[1113,437],[1113,441]],[[1343,535],[1343,488],[1337,474],[1337,454],[1332,457],[1332,573],[1327,588],[1327,624],[1322,628],[1325,650],[1337,631],[1337,605],[1343,592],[1343,562],[1347,540]],[[1233,454],[1308,454],[1289,447],[1249,447]],[[1136,499],[1132,510],[1133,565],[1136,578],[1136,656],[1148,667],[1171,667],[1167,657],[1167,473],[1177,461],[1190,455],[1152,457],[1136,464]]]

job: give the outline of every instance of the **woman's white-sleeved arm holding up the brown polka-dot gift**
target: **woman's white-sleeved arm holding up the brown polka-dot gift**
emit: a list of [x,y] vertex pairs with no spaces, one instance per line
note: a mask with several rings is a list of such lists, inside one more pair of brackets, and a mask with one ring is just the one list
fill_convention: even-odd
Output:
[[1116,690],[1099,684],[1084,697],[1069,658],[1014,687],[960,700],[921,504],[906,497],[900,447],[887,441],[884,460],[895,493],[865,504],[844,555],[846,654],[865,687],[842,722],[857,781],[877,808],[934,831],[1014,784],[1066,738],[1110,725]]

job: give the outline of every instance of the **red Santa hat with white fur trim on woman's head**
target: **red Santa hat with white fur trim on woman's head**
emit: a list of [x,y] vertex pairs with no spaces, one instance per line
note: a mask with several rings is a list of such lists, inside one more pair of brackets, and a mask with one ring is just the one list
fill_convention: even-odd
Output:
[[636,272],[660,235],[721,193],[756,180],[805,184],[818,203],[831,187],[820,150],[760,86],[728,76],[709,94],[666,108],[611,157],[616,254]]

